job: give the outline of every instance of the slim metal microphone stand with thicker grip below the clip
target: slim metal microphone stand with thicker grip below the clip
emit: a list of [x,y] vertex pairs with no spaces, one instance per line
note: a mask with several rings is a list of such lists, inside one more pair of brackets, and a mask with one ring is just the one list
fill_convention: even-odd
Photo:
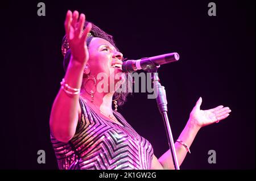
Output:
[[154,92],[156,92],[157,94],[156,102],[158,104],[159,111],[162,114],[164,127],[166,128],[166,134],[167,134],[168,144],[169,144],[171,155],[172,155],[172,161],[174,162],[175,169],[180,170],[179,163],[177,161],[174,138],[172,136],[171,126],[170,126],[168,115],[167,115],[166,90],[164,89],[164,86],[160,84],[158,73],[157,73],[157,70],[159,67],[160,65],[155,66],[155,68],[150,69],[149,72],[151,73],[151,80],[154,84]]

